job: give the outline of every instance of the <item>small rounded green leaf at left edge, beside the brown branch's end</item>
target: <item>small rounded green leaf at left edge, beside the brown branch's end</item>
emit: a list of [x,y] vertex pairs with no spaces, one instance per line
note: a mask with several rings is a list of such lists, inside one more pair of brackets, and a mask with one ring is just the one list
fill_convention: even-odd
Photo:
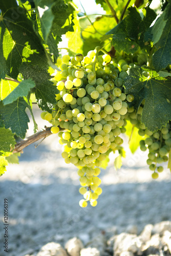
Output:
[[0,151],[12,152],[15,143],[12,132],[5,128],[0,128]]

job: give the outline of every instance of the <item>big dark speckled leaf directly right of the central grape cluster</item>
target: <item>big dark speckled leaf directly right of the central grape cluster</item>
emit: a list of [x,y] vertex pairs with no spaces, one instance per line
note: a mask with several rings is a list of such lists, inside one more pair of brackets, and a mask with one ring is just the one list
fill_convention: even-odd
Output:
[[124,79],[125,93],[133,94],[135,109],[138,109],[145,99],[141,122],[149,131],[155,132],[171,120],[171,79],[159,77],[156,71],[143,70],[149,73],[149,78],[143,76],[138,68],[131,68],[129,76]]

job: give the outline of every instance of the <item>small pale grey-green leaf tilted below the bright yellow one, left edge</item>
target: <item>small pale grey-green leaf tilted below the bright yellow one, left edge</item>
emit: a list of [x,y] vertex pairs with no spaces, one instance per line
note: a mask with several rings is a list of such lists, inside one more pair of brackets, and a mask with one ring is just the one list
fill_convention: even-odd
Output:
[[35,82],[29,78],[23,80],[18,84],[18,86],[3,100],[3,104],[7,105],[17,100],[19,97],[27,96],[30,92],[30,89],[35,87]]

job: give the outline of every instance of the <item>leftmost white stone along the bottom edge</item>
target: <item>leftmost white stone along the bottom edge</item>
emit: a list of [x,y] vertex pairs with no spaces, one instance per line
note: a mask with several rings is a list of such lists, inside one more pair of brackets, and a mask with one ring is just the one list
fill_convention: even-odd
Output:
[[60,244],[51,242],[42,246],[37,256],[67,256],[67,252]]

